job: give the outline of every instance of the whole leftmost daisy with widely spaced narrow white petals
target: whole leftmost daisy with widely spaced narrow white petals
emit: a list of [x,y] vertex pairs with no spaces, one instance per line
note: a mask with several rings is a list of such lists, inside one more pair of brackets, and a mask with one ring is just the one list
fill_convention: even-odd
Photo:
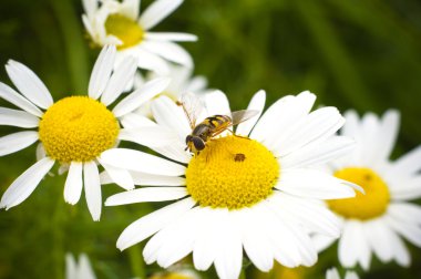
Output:
[[18,152],[38,141],[40,144],[38,162],[6,190],[0,208],[9,209],[25,200],[55,162],[69,169],[64,200],[76,204],[84,186],[88,207],[94,220],[100,219],[102,208],[97,163],[120,186],[126,189],[134,187],[127,172],[109,167],[97,158],[102,152],[123,140],[124,130],[120,128],[119,122],[164,91],[170,81],[151,81],[110,111],[109,106],[121,95],[136,71],[135,59],[126,58],[113,72],[115,53],[115,46],[105,46],[101,51],[91,74],[86,96],[69,96],[55,103],[45,85],[30,69],[16,61],[8,62],[6,70],[20,94],[0,83],[0,97],[21,110],[0,107],[0,124],[29,131],[1,137],[0,155]]

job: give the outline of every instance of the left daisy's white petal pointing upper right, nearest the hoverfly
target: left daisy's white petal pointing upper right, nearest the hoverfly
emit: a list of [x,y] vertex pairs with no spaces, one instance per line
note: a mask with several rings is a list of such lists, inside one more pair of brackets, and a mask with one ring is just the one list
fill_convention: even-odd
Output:
[[143,87],[132,92],[123,99],[113,110],[115,117],[121,117],[133,112],[146,101],[165,91],[170,84],[170,79],[160,78],[152,80],[143,85]]

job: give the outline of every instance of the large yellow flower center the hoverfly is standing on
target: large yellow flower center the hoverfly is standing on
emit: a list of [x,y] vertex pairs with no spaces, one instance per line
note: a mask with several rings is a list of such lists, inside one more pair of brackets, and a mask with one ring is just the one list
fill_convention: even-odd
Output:
[[239,136],[210,140],[187,167],[187,192],[201,206],[238,209],[273,193],[279,164],[260,143]]

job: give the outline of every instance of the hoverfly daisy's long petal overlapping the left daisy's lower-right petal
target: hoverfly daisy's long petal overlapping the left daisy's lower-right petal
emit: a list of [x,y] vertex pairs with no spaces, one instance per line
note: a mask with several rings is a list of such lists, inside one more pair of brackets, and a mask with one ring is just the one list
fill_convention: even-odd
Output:
[[179,176],[185,174],[185,167],[154,155],[126,149],[112,148],[101,154],[101,161],[107,165],[133,172]]

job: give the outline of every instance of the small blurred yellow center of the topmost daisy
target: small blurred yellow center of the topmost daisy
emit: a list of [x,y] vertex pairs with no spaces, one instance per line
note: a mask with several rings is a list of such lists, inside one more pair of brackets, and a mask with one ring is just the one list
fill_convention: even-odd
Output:
[[106,34],[114,35],[122,41],[119,50],[138,44],[144,37],[144,30],[136,21],[119,13],[110,14],[105,21]]

